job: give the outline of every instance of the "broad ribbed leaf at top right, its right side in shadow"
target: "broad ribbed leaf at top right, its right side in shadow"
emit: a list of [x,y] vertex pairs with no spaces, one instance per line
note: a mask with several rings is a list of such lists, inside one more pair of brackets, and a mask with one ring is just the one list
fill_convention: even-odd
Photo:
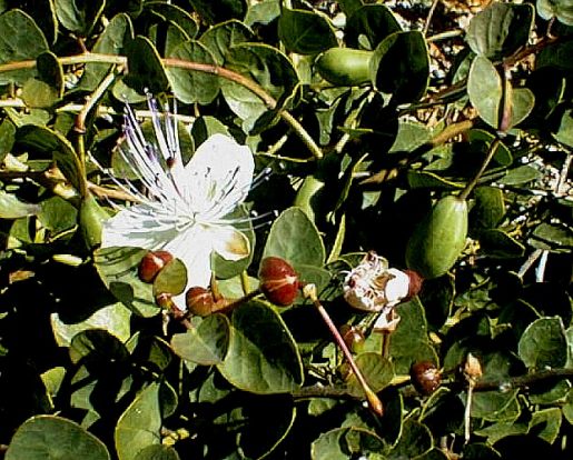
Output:
[[533,19],[531,4],[492,2],[472,18],[467,43],[473,52],[492,60],[511,56],[527,44]]

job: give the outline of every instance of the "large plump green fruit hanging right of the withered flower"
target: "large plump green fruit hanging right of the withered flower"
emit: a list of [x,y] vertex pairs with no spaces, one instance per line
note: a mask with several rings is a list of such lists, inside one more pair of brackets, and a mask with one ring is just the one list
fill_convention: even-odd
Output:
[[406,264],[422,278],[445,274],[465,247],[467,202],[457,197],[442,198],[418,223],[406,247]]

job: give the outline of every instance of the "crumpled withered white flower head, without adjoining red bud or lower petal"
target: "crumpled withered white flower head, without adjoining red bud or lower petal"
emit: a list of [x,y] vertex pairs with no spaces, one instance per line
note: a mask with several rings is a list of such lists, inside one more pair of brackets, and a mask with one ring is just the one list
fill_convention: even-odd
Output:
[[346,276],[343,290],[345,300],[352,307],[387,313],[408,297],[409,277],[401,270],[388,268],[386,259],[371,251]]

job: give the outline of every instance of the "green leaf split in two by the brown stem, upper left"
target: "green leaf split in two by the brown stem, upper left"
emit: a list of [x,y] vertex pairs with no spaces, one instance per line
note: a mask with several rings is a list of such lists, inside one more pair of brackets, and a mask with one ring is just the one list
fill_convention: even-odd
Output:
[[[115,16],[103,29],[93,44],[92,52],[118,56],[124,52],[127,42],[134,39],[134,26],[129,16],[119,13]],[[81,76],[79,88],[87,91],[95,90],[111,70],[111,64],[88,62]]]

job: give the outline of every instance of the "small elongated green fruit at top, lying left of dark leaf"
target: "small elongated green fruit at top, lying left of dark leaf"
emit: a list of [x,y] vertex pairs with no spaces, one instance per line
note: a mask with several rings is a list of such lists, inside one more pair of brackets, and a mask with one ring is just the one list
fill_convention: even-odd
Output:
[[326,81],[342,87],[366,83],[371,80],[372,54],[373,51],[330,48],[316,61],[316,70]]

